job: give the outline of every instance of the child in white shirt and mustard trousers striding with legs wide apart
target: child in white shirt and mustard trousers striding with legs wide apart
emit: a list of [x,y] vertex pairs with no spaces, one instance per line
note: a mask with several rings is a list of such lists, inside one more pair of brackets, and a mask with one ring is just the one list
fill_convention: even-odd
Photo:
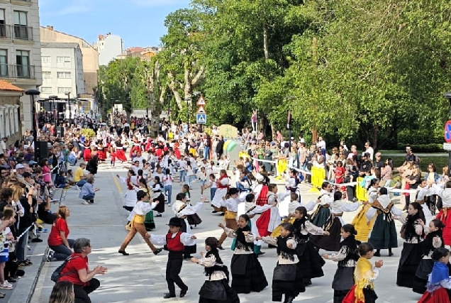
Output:
[[136,233],[140,233],[141,236],[143,236],[143,239],[145,243],[147,243],[147,246],[152,250],[152,252],[157,255],[161,253],[162,248],[156,248],[153,246],[152,242],[150,242],[149,238],[150,235],[145,230],[144,226],[144,220],[145,215],[147,212],[152,211],[155,206],[157,206],[158,202],[154,202],[152,204],[149,203],[149,195],[147,192],[144,192],[143,190],[140,190],[136,196],[138,197],[138,202],[135,204],[135,207],[133,207],[132,213],[134,214],[133,219],[131,219],[131,229],[128,233],[127,237],[124,239],[121,248],[119,248],[118,253],[121,253],[122,255],[129,255],[129,253],[126,253],[126,248],[128,246],[128,243],[132,241],[133,237],[136,235]]

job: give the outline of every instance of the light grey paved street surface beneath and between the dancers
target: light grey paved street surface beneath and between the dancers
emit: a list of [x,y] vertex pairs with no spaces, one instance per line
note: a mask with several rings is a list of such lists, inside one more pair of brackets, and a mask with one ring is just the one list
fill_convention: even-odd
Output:
[[[167,253],[153,255],[140,236],[136,236],[127,248],[129,256],[119,255],[118,247],[126,236],[124,225],[126,224],[127,212],[122,209],[123,184],[116,182],[116,173],[126,170],[121,168],[111,169],[107,166],[101,167],[96,178],[96,187],[101,191],[97,194],[94,205],[82,205],[78,199],[78,191],[69,189],[65,204],[71,209],[71,216],[68,219],[70,235],[69,238],[86,237],[91,239],[93,253],[89,255],[89,264],[93,268],[96,265],[103,265],[108,268],[104,276],[96,276],[101,281],[99,290],[91,294],[93,303],[113,303],[113,302],[197,302],[198,292],[204,280],[203,269],[199,265],[184,262],[182,268],[182,279],[189,286],[186,297],[180,299],[162,299],[162,294],[167,292],[165,282],[165,265]],[[174,184],[174,197],[180,185]],[[308,201],[317,197],[317,194],[307,192],[306,185],[302,185],[302,199]],[[199,183],[194,183],[192,191],[192,202],[199,201]],[[54,206],[56,208],[56,206]],[[350,222],[355,213],[345,214],[344,220]],[[164,234],[167,232],[167,222],[172,216],[172,212],[165,212],[162,218],[156,218],[157,228],[154,233]],[[208,236],[220,236],[221,230],[216,227],[221,222],[222,217],[211,214],[211,206],[204,204],[199,211],[199,216],[203,220],[202,224],[194,228],[194,233],[199,238],[198,254],[203,250],[204,239]],[[398,223],[399,224],[399,223]],[[398,226],[399,228],[399,226]],[[46,236],[47,234],[45,234]],[[221,256],[226,264],[230,265],[232,251],[231,241],[225,242],[225,250],[221,251]],[[266,246],[264,246],[266,247]],[[271,285],[272,270],[276,264],[276,251],[274,249],[264,249],[266,254],[259,258],[265,270],[269,285]],[[401,250],[394,250],[394,257],[382,257],[384,268],[378,280],[375,282],[376,292],[379,296],[378,302],[416,302],[420,296],[411,290],[396,287],[396,268],[398,265]],[[382,252],[383,254],[386,251]],[[35,260],[41,258],[37,255]],[[35,293],[30,302],[47,303],[54,283],[50,280],[50,275],[60,265],[59,262],[44,263],[39,279],[36,283]],[[324,267],[325,277],[313,280],[313,285],[307,287],[304,294],[301,294],[294,302],[306,303],[328,303],[332,302],[333,290],[330,287],[335,273],[336,263],[326,261]],[[31,277],[27,277],[32,280]],[[26,278],[21,283],[26,282]],[[177,291],[178,292],[178,291]],[[260,293],[240,295],[241,302],[272,302],[271,287]],[[25,299],[18,299],[13,295],[11,303],[25,302]]]

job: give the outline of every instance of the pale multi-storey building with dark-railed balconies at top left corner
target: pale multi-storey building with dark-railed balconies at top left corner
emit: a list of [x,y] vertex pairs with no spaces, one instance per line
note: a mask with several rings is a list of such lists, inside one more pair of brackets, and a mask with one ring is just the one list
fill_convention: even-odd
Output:
[[[42,84],[38,0],[0,0],[0,79],[17,87]],[[30,96],[20,97],[22,131],[32,129]]]

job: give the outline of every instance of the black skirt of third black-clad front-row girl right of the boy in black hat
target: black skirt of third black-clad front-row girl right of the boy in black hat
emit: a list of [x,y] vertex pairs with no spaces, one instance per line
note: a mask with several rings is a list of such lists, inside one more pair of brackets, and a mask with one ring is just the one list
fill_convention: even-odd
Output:
[[296,297],[305,292],[306,287],[302,279],[301,266],[299,263],[277,265],[274,268],[272,278],[272,301],[282,302],[282,296]]

